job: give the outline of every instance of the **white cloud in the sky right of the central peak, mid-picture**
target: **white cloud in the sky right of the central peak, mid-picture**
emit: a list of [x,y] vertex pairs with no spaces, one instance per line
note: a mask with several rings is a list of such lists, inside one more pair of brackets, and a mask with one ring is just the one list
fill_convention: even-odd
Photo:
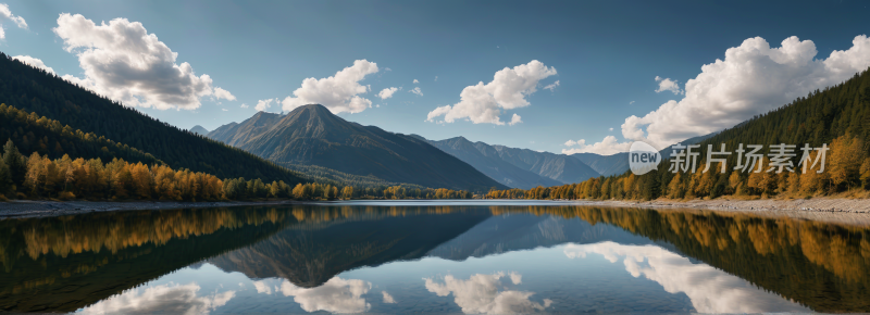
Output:
[[513,68],[505,67],[496,72],[490,83],[481,81],[462,89],[459,103],[436,108],[426,115],[426,121],[435,122],[436,117],[444,116],[443,122],[447,123],[469,118],[474,124],[504,125],[498,117],[501,109],[527,106],[525,97],[537,91],[538,81],[551,75],[556,75],[556,68],[537,60]]

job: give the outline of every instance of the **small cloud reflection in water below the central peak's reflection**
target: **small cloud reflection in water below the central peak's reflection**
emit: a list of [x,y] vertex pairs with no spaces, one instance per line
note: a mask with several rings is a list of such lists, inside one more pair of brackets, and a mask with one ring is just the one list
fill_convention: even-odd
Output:
[[306,312],[326,311],[330,313],[363,313],[372,305],[362,294],[369,292],[372,284],[363,280],[345,280],[335,277],[316,288],[300,288],[284,280],[281,292],[294,297],[294,301]]

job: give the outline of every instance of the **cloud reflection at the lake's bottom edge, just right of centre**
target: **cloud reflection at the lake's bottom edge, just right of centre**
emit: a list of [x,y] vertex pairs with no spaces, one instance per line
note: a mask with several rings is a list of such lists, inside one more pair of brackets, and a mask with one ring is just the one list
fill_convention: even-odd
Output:
[[[530,297],[534,292],[506,290],[499,291],[500,279],[505,273],[493,275],[476,274],[468,280],[457,279],[451,275],[444,277],[444,284],[436,282],[432,278],[424,278],[426,290],[438,297],[453,294],[453,301],[465,314],[524,314],[535,311],[544,311],[552,304],[549,299],[544,299],[544,304],[532,302]],[[519,285],[522,276],[511,273],[509,278],[514,285]]]

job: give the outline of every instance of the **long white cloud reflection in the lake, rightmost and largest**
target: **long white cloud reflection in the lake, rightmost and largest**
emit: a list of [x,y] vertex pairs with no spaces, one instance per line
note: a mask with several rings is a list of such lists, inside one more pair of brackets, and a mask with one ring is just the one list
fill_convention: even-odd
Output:
[[685,293],[698,313],[805,313],[809,310],[755,285],[706,264],[655,245],[623,245],[616,242],[568,244],[569,259],[600,254],[611,263],[620,260],[635,278],[644,276],[669,293]]

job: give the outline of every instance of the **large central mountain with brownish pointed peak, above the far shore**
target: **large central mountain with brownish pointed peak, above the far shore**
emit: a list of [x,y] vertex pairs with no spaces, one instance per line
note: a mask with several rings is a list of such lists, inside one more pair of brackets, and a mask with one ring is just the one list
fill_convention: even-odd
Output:
[[347,122],[322,105],[301,106],[285,116],[260,112],[215,129],[209,138],[278,164],[318,165],[432,188],[505,188],[426,141]]

